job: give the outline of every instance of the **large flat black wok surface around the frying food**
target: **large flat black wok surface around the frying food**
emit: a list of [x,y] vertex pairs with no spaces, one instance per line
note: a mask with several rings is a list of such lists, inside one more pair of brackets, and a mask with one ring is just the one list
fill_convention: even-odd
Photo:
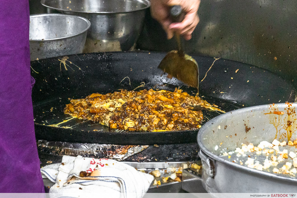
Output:
[[[173,91],[179,87],[194,95],[195,88],[175,78],[161,76],[162,71],[157,66],[165,55],[157,52],[90,53],[32,61],[31,75],[36,80],[32,98],[37,139],[146,145],[195,142],[198,130],[127,132],[77,118],[55,127],[48,126],[70,118],[63,113],[69,98],[84,98],[96,92],[106,94],[118,89],[133,90],[142,82],[145,86],[136,90],[154,88]],[[199,79],[203,79],[214,58],[193,58],[199,65]],[[291,83],[271,72],[224,59],[214,62],[199,88],[203,99],[219,105],[225,111],[260,104],[294,102],[296,94]],[[219,115],[211,111],[203,111],[203,114],[206,121]]]

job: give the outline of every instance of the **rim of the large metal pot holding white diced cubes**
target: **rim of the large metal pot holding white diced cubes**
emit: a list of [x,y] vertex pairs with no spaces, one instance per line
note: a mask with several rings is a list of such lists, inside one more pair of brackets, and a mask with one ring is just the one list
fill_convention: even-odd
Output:
[[[234,168],[237,168],[237,169],[240,169],[242,171],[245,171],[245,172],[250,172],[250,173],[253,173],[253,174],[257,174],[257,175],[262,175],[263,177],[269,177],[269,178],[273,178],[273,179],[278,179],[278,180],[284,180],[284,181],[290,181],[290,182],[296,182],[297,183],[297,178],[288,178],[288,177],[282,177],[282,176],[279,176],[279,175],[275,175],[273,173],[269,173],[269,172],[264,172],[264,171],[260,171],[260,170],[256,170],[256,169],[252,169],[252,168],[249,168],[249,167],[245,167],[243,165],[240,165],[240,164],[236,164],[236,163],[233,163],[231,161],[228,161],[228,160],[225,160],[217,155],[215,155],[214,153],[211,153],[202,143],[202,134],[204,133],[204,131],[207,130],[207,128],[209,128],[213,123],[214,121],[217,121],[217,120],[222,120],[226,117],[228,117],[228,115],[232,114],[232,113],[236,113],[236,114],[242,114],[242,113],[245,113],[247,111],[256,111],[256,110],[264,110],[264,109],[268,109],[269,106],[271,104],[264,104],[264,105],[258,105],[258,106],[253,106],[253,107],[245,107],[245,108],[242,108],[242,109],[237,109],[237,110],[234,110],[234,111],[230,111],[230,112],[227,112],[225,114],[222,114],[222,115],[218,115],[217,117],[215,118],[212,118],[211,120],[209,120],[207,123],[205,123],[199,130],[198,134],[197,134],[197,142],[198,142],[198,145],[199,145],[199,148],[200,150],[203,151],[203,153],[205,153],[208,157],[210,157],[211,159],[214,159],[215,161],[219,161],[223,164],[226,164],[226,165],[229,165],[229,166],[232,166]],[[292,103],[293,106],[297,107],[297,104],[295,103]],[[287,107],[287,104],[286,103],[279,103],[277,104],[277,107],[280,107],[280,108],[285,108]]]

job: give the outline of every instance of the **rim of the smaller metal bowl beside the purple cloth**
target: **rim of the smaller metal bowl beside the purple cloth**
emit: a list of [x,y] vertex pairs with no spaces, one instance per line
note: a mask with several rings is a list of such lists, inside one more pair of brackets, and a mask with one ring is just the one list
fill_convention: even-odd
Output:
[[88,26],[87,26],[87,28],[85,28],[83,31],[81,31],[78,34],[73,34],[73,35],[70,35],[70,36],[53,38],[53,39],[30,39],[29,38],[29,41],[42,41],[42,42],[45,42],[45,41],[58,41],[58,40],[61,40],[61,39],[67,39],[67,38],[71,38],[71,37],[75,37],[75,36],[78,36],[80,34],[83,34],[86,31],[88,31],[89,28],[91,27],[91,22],[88,19],[86,19],[84,17],[81,17],[81,16],[76,16],[76,15],[65,15],[65,14],[35,14],[35,15],[30,15],[30,19],[31,19],[31,17],[33,18],[33,17],[40,17],[40,16],[57,16],[57,15],[59,15],[59,16],[65,16],[65,17],[72,17],[72,18],[80,18],[80,19],[86,21],[87,24],[88,24]]

